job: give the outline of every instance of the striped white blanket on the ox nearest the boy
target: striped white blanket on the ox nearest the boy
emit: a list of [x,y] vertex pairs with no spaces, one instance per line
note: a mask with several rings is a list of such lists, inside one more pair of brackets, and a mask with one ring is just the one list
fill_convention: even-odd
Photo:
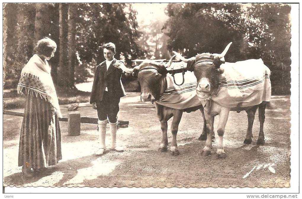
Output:
[[[182,73],[175,74],[177,84],[182,83]],[[178,86],[174,83],[171,74],[167,74],[161,81],[160,98],[156,103],[173,109],[187,109],[200,106],[196,95],[196,77],[193,72],[185,72],[184,84]]]

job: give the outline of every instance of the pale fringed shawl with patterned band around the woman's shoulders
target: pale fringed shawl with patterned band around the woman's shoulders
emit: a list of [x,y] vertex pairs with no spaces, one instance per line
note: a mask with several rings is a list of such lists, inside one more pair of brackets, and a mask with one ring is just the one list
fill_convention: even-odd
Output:
[[50,67],[45,60],[37,55],[33,55],[21,71],[18,83],[19,94],[29,94],[40,96],[47,100],[53,107],[54,113],[62,117],[58,97],[50,75]]

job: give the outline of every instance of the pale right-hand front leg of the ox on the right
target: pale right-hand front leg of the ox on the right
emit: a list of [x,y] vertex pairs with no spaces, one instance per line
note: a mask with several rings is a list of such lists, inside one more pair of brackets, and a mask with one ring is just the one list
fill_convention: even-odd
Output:
[[217,151],[216,151],[216,159],[225,159],[226,158],[226,153],[224,152],[223,149],[223,134],[224,134],[224,129],[226,127],[226,122],[229,117],[229,109],[223,108],[219,112],[219,124],[218,124],[218,129],[217,129],[217,134],[218,134],[218,144],[217,144]]

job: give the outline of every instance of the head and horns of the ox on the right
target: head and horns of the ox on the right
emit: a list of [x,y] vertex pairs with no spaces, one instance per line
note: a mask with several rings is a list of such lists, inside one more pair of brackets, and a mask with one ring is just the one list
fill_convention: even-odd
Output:
[[[226,46],[221,54],[202,53],[195,56],[194,74],[197,79],[196,91],[198,96],[201,93],[209,96],[218,87],[217,75],[223,73],[220,65],[224,63],[224,56],[231,44],[232,42]],[[188,59],[182,57],[179,53],[174,53],[182,61],[188,62]]]

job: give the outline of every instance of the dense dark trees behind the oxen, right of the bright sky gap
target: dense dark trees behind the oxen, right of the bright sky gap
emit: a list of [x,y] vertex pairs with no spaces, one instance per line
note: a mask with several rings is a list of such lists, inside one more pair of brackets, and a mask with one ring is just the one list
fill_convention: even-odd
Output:
[[232,41],[226,61],[262,58],[271,68],[274,93],[289,93],[288,5],[178,3],[169,4],[167,14],[168,49],[190,57],[201,52],[220,53]]

